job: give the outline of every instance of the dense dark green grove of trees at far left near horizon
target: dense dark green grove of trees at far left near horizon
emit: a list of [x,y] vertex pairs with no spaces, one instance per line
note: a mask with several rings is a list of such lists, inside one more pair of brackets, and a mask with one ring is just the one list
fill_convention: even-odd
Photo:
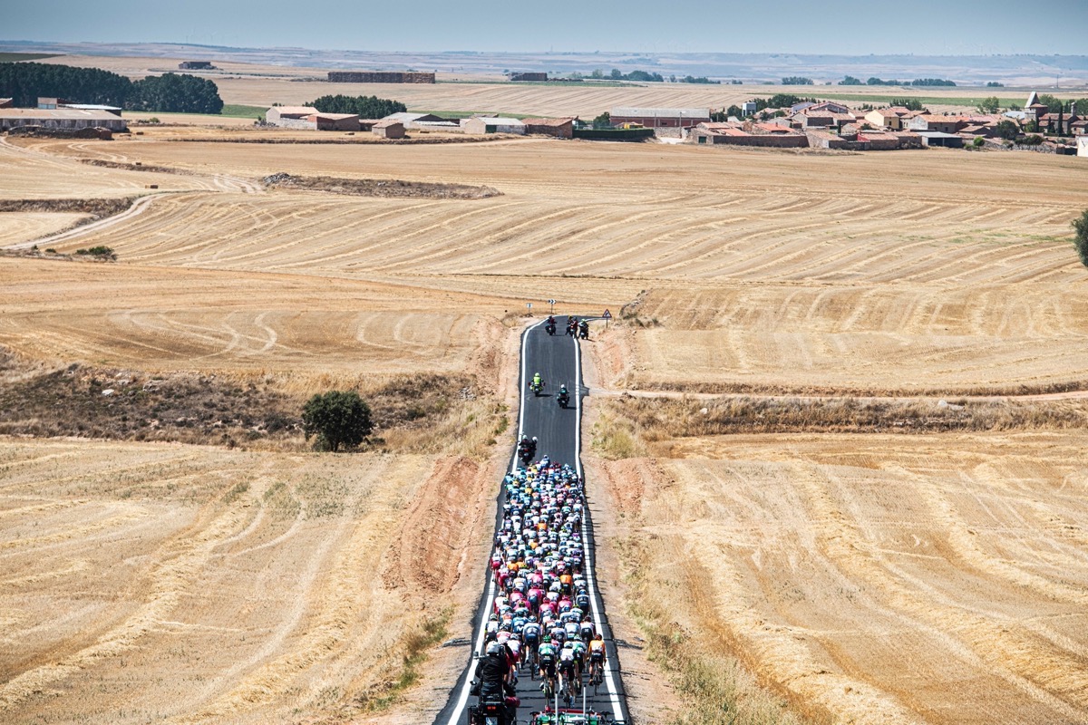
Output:
[[129,111],[220,113],[219,87],[207,78],[176,73],[131,80],[99,68],[46,63],[0,63],[0,97],[33,108],[38,98],[116,105]]

